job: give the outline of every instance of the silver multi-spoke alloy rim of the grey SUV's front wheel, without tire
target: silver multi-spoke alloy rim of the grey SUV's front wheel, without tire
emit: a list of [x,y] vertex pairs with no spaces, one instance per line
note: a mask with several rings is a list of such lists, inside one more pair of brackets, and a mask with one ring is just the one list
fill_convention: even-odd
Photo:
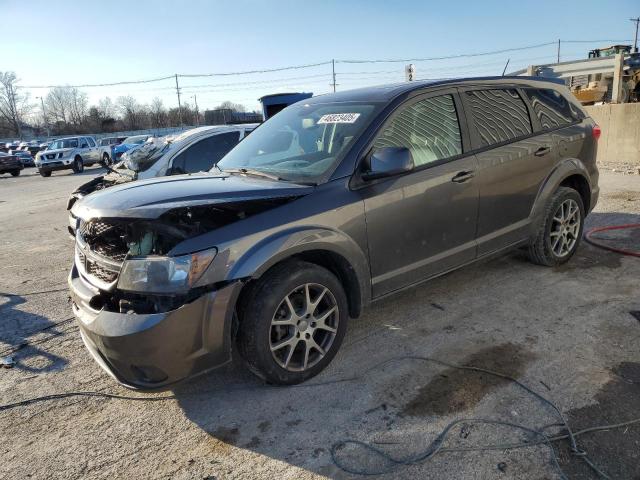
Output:
[[293,372],[313,367],[331,348],[339,318],[338,304],[327,287],[305,283],[295,288],[280,302],[271,320],[274,360]]

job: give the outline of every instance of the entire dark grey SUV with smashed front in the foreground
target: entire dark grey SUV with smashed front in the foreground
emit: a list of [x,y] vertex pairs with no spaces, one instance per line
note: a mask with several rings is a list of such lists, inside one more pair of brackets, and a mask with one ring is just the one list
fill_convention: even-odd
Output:
[[221,365],[234,342],[259,377],[302,382],[372,300],[514,248],[567,262],[598,200],[599,135],[564,85],[533,78],[294,104],[208,173],[73,206],[82,339],[134,388]]

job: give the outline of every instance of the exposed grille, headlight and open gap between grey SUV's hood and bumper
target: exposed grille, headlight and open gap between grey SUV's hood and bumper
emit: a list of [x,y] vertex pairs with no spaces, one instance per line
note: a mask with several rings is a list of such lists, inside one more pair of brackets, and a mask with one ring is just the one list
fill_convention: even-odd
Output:
[[93,307],[152,314],[178,308],[214,289],[196,287],[215,257],[215,247],[172,257],[180,242],[273,208],[285,198],[177,208],[157,219],[80,220],[77,269],[99,290]]

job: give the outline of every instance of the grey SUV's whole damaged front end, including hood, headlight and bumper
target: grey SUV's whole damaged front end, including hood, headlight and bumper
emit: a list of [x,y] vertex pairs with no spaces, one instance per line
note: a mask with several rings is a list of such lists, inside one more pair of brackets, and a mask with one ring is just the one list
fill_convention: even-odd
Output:
[[[244,279],[227,275],[225,262],[214,263],[219,252],[211,232],[310,191],[202,174],[130,182],[73,205],[68,282],[94,359],[123,385],[144,390],[227,362]],[[185,251],[187,242],[197,246]],[[221,271],[210,275],[214,264]]]

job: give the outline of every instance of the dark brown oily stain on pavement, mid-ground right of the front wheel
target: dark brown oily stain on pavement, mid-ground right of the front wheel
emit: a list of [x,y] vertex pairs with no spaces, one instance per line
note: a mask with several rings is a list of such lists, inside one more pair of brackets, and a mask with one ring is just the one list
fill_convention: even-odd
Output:
[[[534,358],[524,347],[505,343],[482,349],[465,358],[461,365],[494,370],[518,378]],[[475,406],[492,390],[507,383],[507,380],[481,372],[447,369],[422,387],[401,413],[427,416],[462,412]]]

